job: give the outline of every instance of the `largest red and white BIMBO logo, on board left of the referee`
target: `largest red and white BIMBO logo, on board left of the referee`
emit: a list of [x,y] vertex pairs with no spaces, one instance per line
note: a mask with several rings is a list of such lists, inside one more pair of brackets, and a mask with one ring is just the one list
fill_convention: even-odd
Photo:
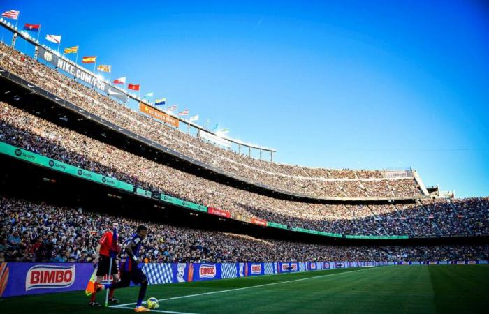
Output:
[[66,288],[75,282],[75,265],[37,265],[27,271],[25,290]]

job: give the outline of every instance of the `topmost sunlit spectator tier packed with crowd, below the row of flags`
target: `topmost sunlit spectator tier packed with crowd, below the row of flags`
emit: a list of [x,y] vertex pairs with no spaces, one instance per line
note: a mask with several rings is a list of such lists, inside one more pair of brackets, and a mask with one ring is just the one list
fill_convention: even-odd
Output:
[[411,172],[392,177],[380,170],[332,170],[270,163],[221,149],[117,103],[84,84],[0,44],[0,66],[59,98],[141,137],[246,182],[305,197],[423,197]]

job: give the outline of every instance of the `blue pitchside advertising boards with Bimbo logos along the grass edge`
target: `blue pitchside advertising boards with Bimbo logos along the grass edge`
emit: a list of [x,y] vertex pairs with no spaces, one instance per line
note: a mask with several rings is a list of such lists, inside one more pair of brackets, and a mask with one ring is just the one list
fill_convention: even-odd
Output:
[[[487,261],[397,262],[409,264],[487,264]],[[321,264],[321,267],[318,265]],[[150,285],[283,274],[315,269],[381,266],[388,262],[150,263],[139,267]],[[353,266],[351,266],[353,265]],[[315,269],[314,269],[315,268]],[[89,263],[0,263],[0,297],[85,290],[94,267]],[[105,278],[104,282],[109,278]],[[131,284],[132,285],[132,284]]]

